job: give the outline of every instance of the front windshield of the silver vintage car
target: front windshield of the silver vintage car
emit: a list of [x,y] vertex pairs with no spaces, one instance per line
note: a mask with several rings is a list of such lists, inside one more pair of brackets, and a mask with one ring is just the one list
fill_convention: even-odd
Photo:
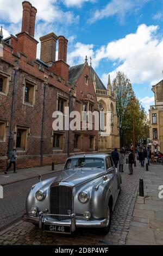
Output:
[[65,165],[65,170],[75,168],[105,169],[104,159],[100,159],[97,157],[76,157],[74,159],[68,159]]

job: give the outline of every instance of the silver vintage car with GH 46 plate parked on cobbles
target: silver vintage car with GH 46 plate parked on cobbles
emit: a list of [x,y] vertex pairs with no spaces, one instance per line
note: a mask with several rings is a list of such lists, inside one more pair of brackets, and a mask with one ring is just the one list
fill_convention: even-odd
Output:
[[121,174],[111,156],[73,156],[54,175],[32,186],[23,220],[52,233],[71,234],[76,228],[108,233],[121,191]]

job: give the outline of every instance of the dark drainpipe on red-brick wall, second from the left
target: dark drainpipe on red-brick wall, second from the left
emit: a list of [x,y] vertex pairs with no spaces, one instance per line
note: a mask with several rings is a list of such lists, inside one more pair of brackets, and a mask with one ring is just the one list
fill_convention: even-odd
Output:
[[43,139],[43,125],[44,125],[44,120],[45,120],[45,106],[46,106],[46,87],[48,84],[48,77],[45,76],[45,81],[43,82],[43,110],[42,110],[42,122],[41,122],[41,161],[40,161],[40,166],[43,166],[43,144],[44,144],[44,139]]

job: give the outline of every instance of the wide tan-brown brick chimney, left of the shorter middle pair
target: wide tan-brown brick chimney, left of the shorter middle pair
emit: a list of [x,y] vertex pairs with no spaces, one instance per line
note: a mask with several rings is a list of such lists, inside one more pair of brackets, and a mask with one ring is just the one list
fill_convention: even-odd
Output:
[[43,62],[47,64],[52,64],[55,62],[57,40],[58,40],[58,36],[55,35],[54,33],[41,36],[40,59]]

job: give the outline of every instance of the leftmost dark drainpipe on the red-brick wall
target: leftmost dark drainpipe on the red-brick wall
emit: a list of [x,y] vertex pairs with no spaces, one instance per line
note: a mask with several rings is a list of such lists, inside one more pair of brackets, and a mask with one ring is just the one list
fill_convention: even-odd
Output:
[[16,96],[16,82],[17,82],[17,73],[19,70],[18,62],[15,60],[14,66],[14,82],[13,82],[13,91],[12,91],[12,105],[11,105],[11,120],[10,120],[10,132],[9,132],[9,148],[8,148],[8,157],[10,151],[13,149],[13,128],[14,128],[14,106],[15,106],[15,96]]

